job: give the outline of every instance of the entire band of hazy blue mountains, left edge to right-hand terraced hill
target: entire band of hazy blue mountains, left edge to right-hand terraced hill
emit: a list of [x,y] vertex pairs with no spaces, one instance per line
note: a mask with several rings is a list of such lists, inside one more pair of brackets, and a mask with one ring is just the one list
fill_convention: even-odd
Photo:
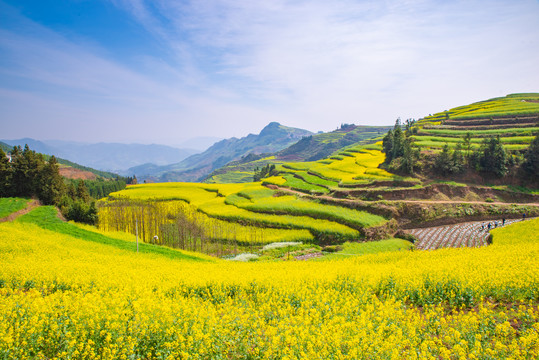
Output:
[[[76,162],[102,171],[124,176],[135,175],[139,181],[203,181],[207,178],[247,166],[252,172],[260,165],[258,159],[274,155],[280,160],[317,160],[329,156],[339,148],[362,139],[379,136],[390,127],[356,126],[343,124],[341,128],[313,134],[304,129],[269,123],[258,134],[215,142],[205,151],[175,148],[166,145],[80,143],[59,140],[38,141],[30,138],[3,140],[10,146],[28,144],[40,153]],[[195,138],[183,142],[201,149],[216,138]],[[219,139],[217,139],[219,140]],[[250,161],[253,161],[249,163]],[[251,179],[251,177],[247,177]]]

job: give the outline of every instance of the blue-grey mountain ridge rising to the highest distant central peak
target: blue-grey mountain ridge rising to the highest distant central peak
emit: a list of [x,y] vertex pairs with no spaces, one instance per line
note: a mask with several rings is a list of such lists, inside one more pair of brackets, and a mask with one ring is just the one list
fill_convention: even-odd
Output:
[[130,168],[127,172],[135,174],[139,181],[201,181],[215,169],[233,160],[248,154],[277,152],[310,135],[310,131],[272,122],[258,135],[221,140],[203,153],[192,155],[181,162],[167,166],[151,162]]

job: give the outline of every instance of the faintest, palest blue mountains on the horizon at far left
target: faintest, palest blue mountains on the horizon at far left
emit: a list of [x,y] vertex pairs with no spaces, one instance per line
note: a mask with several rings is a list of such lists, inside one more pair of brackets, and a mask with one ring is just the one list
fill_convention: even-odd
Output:
[[28,144],[37,152],[69,159],[78,164],[103,171],[112,171],[125,175],[133,175],[126,170],[137,165],[153,163],[166,165],[177,163],[199,151],[178,149],[165,145],[97,143],[34,139],[2,140],[10,146]]

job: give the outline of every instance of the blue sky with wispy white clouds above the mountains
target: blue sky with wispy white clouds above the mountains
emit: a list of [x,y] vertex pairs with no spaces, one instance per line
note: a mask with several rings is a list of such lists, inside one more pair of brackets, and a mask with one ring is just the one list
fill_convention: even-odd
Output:
[[391,125],[539,92],[538,0],[0,0],[0,139]]

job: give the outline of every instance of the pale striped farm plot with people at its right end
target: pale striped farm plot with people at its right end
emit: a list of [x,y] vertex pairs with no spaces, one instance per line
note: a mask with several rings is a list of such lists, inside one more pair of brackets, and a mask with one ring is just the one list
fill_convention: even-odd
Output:
[[[507,220],[505,225],[519,220]],[[417,239],[415,248],[419,250],[436,250],[448,247],[481,247],[487,245],[489,236],[488,221],[475,221],[455,225],[436,226],[408,230]],[[495,228],[490,221],[491,229]],[[501,221],[496,227],[500,227]]]

